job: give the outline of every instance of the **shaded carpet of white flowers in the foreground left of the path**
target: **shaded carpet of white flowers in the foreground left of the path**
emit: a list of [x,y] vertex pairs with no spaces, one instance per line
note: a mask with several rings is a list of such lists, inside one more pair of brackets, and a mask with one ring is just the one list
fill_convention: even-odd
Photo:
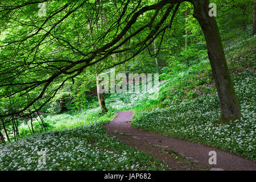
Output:
[[[45,151],[45,164],[38,162],[38,151]],[[102,122],[36,133],[0,146],[0,170],[141,170],[156,165],[152,156],[106,134]]]

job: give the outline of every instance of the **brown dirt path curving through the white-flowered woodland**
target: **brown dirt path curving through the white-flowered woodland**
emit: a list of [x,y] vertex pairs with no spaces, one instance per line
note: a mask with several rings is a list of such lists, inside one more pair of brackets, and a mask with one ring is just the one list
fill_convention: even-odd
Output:
[[[104,126],[105,130],[110,135],[126,142],[129,146],[137,147],[141,151],[150,153],[174,169],[197,170],[200,168],[210,168],[212,170],[256,170],[255,162],[229,152],[204,146],[203,144],[135,129],[130,125],[132,117],[133,111],[121,111],[115,116],[112,122]],[[209,164],[209,151],[216,152],[217,164]],[[184,156],[187,162],[185,160],[181,162],[180,158],[174,159],[174,153],[179,154],[178,156]]]

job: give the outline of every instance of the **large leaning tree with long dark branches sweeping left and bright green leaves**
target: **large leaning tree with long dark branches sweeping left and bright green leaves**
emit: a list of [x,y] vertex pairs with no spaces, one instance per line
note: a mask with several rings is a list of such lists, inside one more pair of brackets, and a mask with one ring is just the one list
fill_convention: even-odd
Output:
[[[209,0],[1,1],[0,94],[19,96],[22,102],[15,110],[2,109],[0,117],[24,117],[40,110],[65,82],[92,65],[103,71],[133,59],[173,26],[183,2],[192,3],[205,35],[221,122],[240,118],[217,22],[209,16]],[[46,16],[38,16],[38,3],[46,3]],[[127,56],[113,61],[118,53]]]

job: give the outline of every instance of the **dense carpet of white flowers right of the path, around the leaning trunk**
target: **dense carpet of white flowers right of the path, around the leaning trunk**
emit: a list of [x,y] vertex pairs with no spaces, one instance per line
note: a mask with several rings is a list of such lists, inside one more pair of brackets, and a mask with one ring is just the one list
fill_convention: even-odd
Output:
[[220,147],[234,154],[256,158],[255,73],[249,69],[233,78],[243,117],[218,125],[220,104],[217,94],[184,101],[167,109],[137,113],[133,126]]

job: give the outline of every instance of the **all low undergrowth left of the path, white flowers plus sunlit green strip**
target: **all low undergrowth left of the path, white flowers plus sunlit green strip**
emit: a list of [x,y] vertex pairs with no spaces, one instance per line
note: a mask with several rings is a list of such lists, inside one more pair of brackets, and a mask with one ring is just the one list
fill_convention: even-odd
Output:
[[[48,131],[19,126],[21,139],[0,145],[0,170],[170,170],[150,154],[127,146],[104,130],[116,112],[100,109],[43,115]],[[46,151],[39,164],[38,152]]]

